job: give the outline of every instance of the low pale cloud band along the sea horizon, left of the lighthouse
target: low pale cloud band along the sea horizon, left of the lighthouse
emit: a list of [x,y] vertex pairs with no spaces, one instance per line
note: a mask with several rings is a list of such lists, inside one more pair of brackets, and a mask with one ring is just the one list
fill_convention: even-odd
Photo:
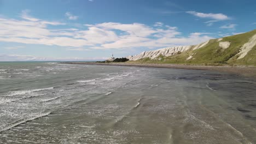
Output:
[[1,62],[11,61],[100,61],[108,57],[38,57],[31,55],[0,55]]

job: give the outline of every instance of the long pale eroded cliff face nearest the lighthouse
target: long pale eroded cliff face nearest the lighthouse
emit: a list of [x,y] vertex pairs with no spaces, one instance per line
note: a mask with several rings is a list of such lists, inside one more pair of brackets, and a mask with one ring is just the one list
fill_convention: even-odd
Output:
[[154,50],[154,51],[143,51],[142,53],[139,53],[135,56],[128,56],[130,61],[137,61],[138,59],[142,58],[150,58],[154,59],[158,56],[173,56],[176,55],[178,52],[183,52],[189,50],[193,46],[174,46],[174,47],[166,47],[164,49]]

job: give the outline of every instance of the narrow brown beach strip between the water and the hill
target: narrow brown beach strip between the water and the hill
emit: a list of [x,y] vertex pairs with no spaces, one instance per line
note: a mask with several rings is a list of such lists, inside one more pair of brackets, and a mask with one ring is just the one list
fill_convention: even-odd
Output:
[[92,65],[117,65],[126,67],[147,67],[147,68],[173,68],[173,69],[192,69],[192,70],[214,70],[230,74],[253,77],[256,79],[256,67],[244,65],[185,65],[185,64],[153,64],[153,63],[96,63],[96,62],[61,62],[63,64],[92,64]]

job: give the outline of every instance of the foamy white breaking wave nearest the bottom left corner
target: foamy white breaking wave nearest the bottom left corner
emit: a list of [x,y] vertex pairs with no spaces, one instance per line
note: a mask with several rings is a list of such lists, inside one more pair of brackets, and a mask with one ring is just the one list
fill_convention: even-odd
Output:
[[30,117],[30,118],[20,119],[19,121],[16,121],[16,122],[7,124],[7,125],[5,126],[5,128],[0,129],[0,133],[1,133],[2,131],[9,130],[9,129],[11,129],[11,128],[17,127],[18,125],[20,125],[20,124],[22,124],[22,123],[26,123],[26,122],[29,122],[29,121],[33,121],[34,119],[37,119],[37,118],[40,118],[40,117],[48,116],[48,115],[50,115],[50,113],[51,113],[51,112],[40,113],[40,114],[37,115],[37,116]]

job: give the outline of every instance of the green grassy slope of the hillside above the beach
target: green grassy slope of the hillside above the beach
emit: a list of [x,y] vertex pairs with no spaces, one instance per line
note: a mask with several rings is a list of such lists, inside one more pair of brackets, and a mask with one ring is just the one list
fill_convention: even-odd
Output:
[[[236,59],[235,56],[243,46],[247,43],[253,35],[256,34],[256,30],[232,35],[225,37],[221,41],[229,41],[231,44],[228,49],[222,49],[219,47],[218,39],[212,39],[209,43],[200,49],[182,52],[178,55],[164,57],[159,56],[156,59],[143,58],[139,59],[139,63],[176,63],[176,64],[254,64],[256,65],[256,46],[253,47],[248,54],[242,59]],[[189,56],[193,56],[187,60]]]

